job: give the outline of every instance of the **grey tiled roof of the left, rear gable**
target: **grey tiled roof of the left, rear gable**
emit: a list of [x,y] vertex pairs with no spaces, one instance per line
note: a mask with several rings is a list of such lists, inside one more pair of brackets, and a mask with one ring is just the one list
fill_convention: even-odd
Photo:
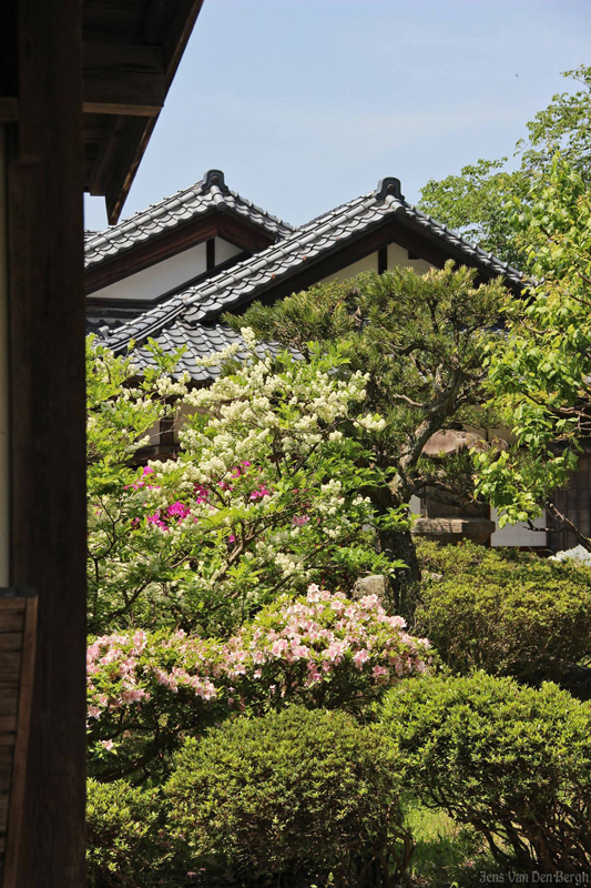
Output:
[[231,191],[221,170],[210,170],[201,182],[176,192],[172,198],[165,198],[130,219],[124,219],[118,225],[105,231],[85,232],[85,265],[95,268],[100,262],[113,259],[132,246],[145,243],[166,230],[213,210],[242,216],[274,238],[285,238],[294,230],[292,225],[244,200],[235,191]]

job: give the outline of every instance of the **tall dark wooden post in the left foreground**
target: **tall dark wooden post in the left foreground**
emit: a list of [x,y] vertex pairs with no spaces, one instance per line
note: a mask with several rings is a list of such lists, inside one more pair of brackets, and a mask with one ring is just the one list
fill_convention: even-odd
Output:
[[19,0],[8,173],[11,582],[39,594],[19,888],[84,880],[82,2]]

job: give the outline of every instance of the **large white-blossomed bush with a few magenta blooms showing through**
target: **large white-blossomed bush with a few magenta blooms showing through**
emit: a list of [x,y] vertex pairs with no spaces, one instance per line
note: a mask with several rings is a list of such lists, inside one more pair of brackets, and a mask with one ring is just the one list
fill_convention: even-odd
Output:
[[[249,363],[196,391],[172,381],[171,359],[155,346],[162,373],[140,389],[131,364],[104,350],[94,357],[89,585],[96,634],[142,625],[227,635],[283,591],[310,582],[347,589],[361,573],[398,565],[376,554],[378,522],[363,494],[386,483],[363,443],[383,424],[359,415],[366,377],[339,379],[338,350],[306,362],[287,353],[258,359],[244,335]],[[175,410],[193,411],[176,458],[133,470],[142,430],[171,411],[172,396]],[[395,511],[379,524],[405,525]]]

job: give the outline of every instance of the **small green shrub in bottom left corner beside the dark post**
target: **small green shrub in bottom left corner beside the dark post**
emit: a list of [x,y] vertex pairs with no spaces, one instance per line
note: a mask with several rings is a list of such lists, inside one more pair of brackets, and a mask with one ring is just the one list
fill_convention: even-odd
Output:
[[[86,872],[91,888],[182,885],[177,849],[170,841],[157,789],[125,780],[90,779],[86,801]],[[181,876],[181,880],[176,878]]]

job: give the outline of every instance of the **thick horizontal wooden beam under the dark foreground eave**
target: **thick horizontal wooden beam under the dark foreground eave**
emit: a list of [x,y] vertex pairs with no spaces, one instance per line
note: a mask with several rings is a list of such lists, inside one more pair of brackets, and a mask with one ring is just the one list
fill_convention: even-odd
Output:
[[154,117],[165,97],[161,47],[84,43],[84,112]]

